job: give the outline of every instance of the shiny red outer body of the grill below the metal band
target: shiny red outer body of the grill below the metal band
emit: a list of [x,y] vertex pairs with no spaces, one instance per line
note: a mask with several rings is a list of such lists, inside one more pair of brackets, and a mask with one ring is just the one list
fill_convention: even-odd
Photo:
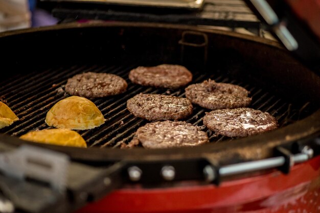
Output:
[[214,185],[122,189],[82,212],[320,212],[320,156],[279,171]]

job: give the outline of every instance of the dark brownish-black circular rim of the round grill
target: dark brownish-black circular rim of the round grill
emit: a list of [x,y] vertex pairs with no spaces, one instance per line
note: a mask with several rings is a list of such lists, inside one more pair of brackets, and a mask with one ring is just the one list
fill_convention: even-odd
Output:
[[[271,48],[283,51],[283,54],[288,55],[288,52],[282,48],[278,43],[265,40],[262,38],[251,37],[247,35],[239,35],[232,32],[222,32],[217,30],[203,30],[194,26],[173,25],[173,24],[149,24],[149,23],[68,23],[58,26],[50,26],[40,29],[28,29],[20,30],[16,32],[8,32],[0,34],[0,39],[3,37],[14,36],[25,33],[33,33],[38,31],[56,31],[60,29],[69,28],[87,28],[87,27],[112,27],[112,26],[130,26],[130,27],[148,27],[148,28],[174,28],[194,30],[208,33],[215,33],[225,37],[238,38],[248,42],[256,42],[260,45],[267,45]],[[289,56],[288,56],[289,57]],[[291,58],[291,57],[290,57]],[[0,135],[0,141],[7,145],[19,146],[23,143],[33,144],[40,147],[48,147],[53,150],[64,152],[71,156],[71,158],[78,161],[101,161],[101,162],[113,162],[123,159],[140,159],[140,160],[160,160],[160,159],[181,159],[189,157],[209,157],[217,161],[227,162],[234,160],[235,158],[248,160],[248,159],[261,159],[272,155],[272,150],[275,146],[286,144],[291,141],[303,139],[320,132],[320,110],[317,110],[307,118],[295,122],[286,127],[277,129],[272,132],[268,132],[263,135],[252,136],[249,138],[238,139],[237,143],[226,142],[220,144],[206,144],[194,148],[172,148],[172,149],[156,149],[148,150],[142,148],[136,148],[134,150],[122,150],[122,149],[100,149],[90,148],[81,149],[74,147],[59,147],[53,145],[43,145],[32,142],[21,141],[18,138],[10,137],[7,135]],[[233,143],[233,144],[232,144]],[[232,145],[231,145],[232,144]],[[257,150],[259,154],[257,154]],[[261,151],[263,150],[263,151]]]

